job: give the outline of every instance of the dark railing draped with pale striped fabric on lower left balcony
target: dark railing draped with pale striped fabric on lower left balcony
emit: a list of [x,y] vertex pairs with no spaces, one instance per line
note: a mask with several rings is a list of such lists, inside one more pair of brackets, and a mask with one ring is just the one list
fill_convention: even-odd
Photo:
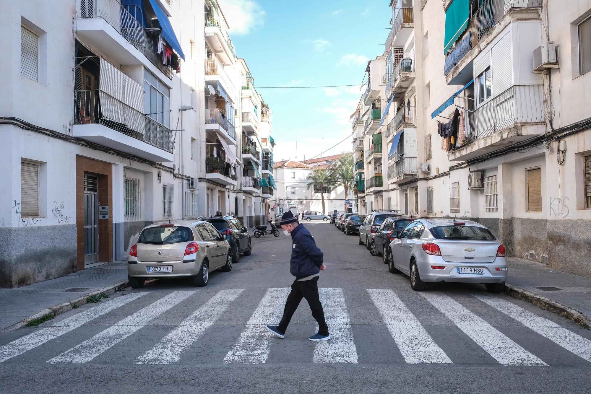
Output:
[[76,90],[76,123],[103,125],[139,141],[173,152],[173,132],[149,116],[122,103],[102,90]]

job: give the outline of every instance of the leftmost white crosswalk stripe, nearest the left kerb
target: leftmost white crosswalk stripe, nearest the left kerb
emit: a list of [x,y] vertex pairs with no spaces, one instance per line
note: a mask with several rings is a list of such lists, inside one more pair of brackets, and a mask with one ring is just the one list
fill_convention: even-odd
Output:
[[19,356],[20,354],[25,353],[25,351],[34,349],[35,347],[62,336],[63,334],[69,333],[75,328],[111,312],[128,302],[134,301],[134,299],[138,299],[145,294],[148,294],[148,292],[127,294],[109,301],[103,301],[99,305],[95,305],[86,311],[65,318],[64,320],[52,324],[50,327],[41,328],[41,330],[18,338],[11,343],[7,343],[0,347],[0,363],[5,362],[12,357]]

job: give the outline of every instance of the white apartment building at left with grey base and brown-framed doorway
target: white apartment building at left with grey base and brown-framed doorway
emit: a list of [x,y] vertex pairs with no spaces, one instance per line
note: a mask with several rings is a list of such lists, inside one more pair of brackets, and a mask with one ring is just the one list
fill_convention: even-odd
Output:
[[217,1],[6,6],[0,286],[124,259],[150,223],[252,220],[242,60]]

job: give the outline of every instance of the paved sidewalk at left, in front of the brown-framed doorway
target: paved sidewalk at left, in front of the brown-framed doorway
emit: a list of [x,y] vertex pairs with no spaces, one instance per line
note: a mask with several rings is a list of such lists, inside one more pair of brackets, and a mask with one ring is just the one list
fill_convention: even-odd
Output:
[[123,281],[127,281],[127,262],[118,261],[33,285],[0,288],[0,330],[62,302]]

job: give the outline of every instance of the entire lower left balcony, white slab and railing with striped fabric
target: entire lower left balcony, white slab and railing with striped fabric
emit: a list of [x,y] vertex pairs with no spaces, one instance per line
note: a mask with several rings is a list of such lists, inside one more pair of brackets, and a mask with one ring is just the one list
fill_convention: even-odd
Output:
[[102,90],[77,90],[74,103],[76,138],[150,161],[173,161],[173,133],[137,109]]

